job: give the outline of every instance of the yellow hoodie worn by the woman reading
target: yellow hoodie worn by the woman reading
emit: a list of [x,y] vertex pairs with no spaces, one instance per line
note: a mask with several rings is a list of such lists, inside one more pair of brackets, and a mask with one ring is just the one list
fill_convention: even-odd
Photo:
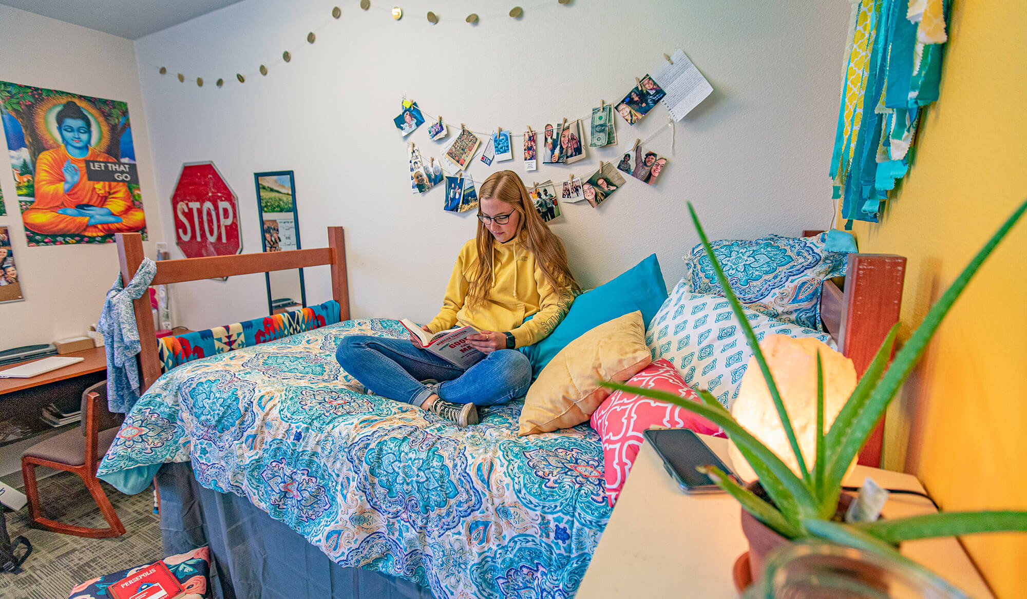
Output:
[[[454,325],[470,325],[479,330],[509,331],[517,347],[530,346],[546,337],[574,302],[570,289],[549,284],[534,254],[524,247],[525,233],[506,243],[492,240],[493,284],[484,306],[466,306],[467,288],[478,264],[474,240],[463,244],[446,286],[439,316],[428,323],[435,333]],[[535,315],[525,322],[524,319]]]

